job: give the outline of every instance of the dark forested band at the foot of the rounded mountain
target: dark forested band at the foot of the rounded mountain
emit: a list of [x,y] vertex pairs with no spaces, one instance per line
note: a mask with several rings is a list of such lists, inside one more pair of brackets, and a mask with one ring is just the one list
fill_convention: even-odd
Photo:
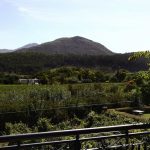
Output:
[[0,54],[0,72],[33,74],[50,68],[76,66],[97,68],[106,71],[127,69],[129,71],[146,70],[144,59],[128,61],[131,54],[115,55],[47,55],[41,53],[4,53]]

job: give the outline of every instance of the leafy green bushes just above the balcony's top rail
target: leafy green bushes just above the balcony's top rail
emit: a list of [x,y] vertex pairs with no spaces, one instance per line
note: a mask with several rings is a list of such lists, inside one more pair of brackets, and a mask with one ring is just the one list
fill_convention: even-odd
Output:
[[[18,134],[52,130],[65,130],[73,128],[101,127],[138,122],[141,122],[141,120],[137,118],[131,118],[130,116],[125,116],[124,114],[118,113],[117,111],[111,109],[101,113],[90,111],[83,118],[74,115],[73,117],[64,119],[57,124],[53,122],[50,118],[39,118],[33,126],[22,122],[6,123],[3,134]],[[148,120],[145,120],[144,122],[148,122]]]

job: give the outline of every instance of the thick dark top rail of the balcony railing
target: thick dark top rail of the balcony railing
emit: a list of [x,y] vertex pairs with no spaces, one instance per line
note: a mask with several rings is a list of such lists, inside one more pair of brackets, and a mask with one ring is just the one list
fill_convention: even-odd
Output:
[[81,134],[111,132],[111,131],[121,131],[121,130],[123,131],[123,130],[131,130],[131,129],[147,129],[147,128],[150,128],[150,124],[141,123],[141,124],[127,124],[127,125],[96,127],[96,128],[27,133],[27,134],[17,134],[17,135],[4,135],[4,136],[0,136],[0,142],[57,137],[57,136],[71,136],[71,135],[79,135],[79,134],[81,135]]

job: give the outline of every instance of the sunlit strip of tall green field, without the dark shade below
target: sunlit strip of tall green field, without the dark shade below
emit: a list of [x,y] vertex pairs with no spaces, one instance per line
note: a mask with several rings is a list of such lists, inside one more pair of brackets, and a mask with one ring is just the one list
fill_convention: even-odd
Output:
[[115,103],[128,99],[123,84],[0,85],[0,111]]

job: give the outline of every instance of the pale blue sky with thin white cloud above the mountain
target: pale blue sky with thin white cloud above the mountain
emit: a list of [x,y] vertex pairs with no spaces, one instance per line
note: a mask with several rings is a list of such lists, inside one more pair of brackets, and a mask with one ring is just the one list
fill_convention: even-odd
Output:
[[0,0],[0,49],[83,36],[125,53],[150,49],[150,0]]

